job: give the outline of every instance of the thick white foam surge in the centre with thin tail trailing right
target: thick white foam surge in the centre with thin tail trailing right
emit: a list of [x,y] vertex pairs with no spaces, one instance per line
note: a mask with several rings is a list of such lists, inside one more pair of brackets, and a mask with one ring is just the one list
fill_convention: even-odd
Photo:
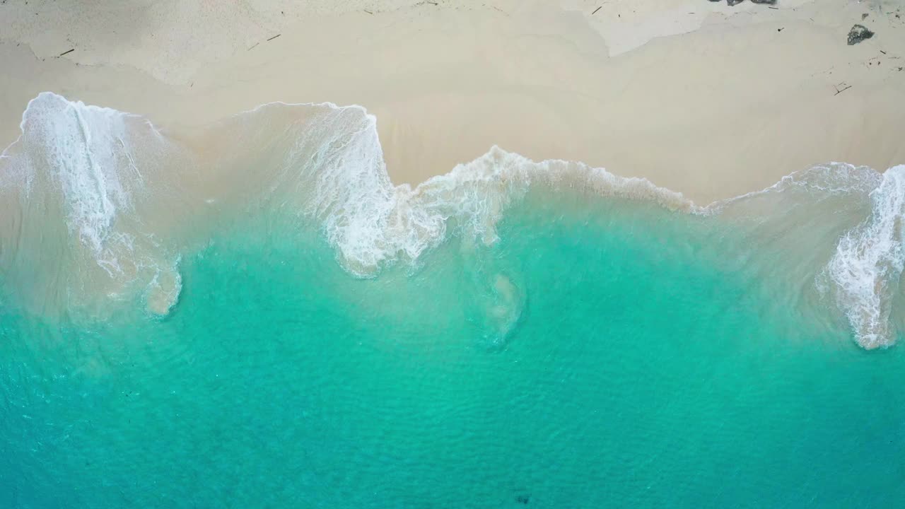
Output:
[[[532,183],[652,200],[677,210],[695,208],[680,193],[644,178],[617,177],[604,168],[563,160],[535,162],[499,147],[414,189],[394,187],[374,116],[360,107],[329,103],[294,106],[324,111],[304,126],[284,167],[297,172],[296,185],[305,197],[301,209],[319,219],[340,263],[359,276],[417,260],[443,242],[451,219],[464,235],[492,244],[503,212]],[[257,111],[261,108],[250,113]]]

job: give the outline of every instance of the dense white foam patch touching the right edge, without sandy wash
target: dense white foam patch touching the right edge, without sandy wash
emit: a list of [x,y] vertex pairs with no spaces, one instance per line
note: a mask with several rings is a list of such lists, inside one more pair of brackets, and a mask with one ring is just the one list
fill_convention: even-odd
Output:
[[871,193],[871,216],[843,235],[826,272],[864,348],[891,345],[892,298],[905,266],[905,166],[890,168]]

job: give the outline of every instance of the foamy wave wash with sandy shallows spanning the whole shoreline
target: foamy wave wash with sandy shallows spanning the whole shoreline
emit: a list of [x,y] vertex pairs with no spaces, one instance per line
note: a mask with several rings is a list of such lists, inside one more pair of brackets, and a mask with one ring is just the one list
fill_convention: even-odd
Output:
[[498,147],[417,187],[395,186],[376,118],[358,106],[270,103],[184,135],[43,92],[21,128],[0,157],[0,262],[5,285],[42,312],[142,295],[149,312],[167,314],[182,284],[180,254],[238,210],[281,208],[309,219],[339,264],[368,277],[414,263],[450,230],[493,244],[504,212],[539,186],[745,218],[767,243],[777,225],[801,228],[795,235],[820,231],[834,246],[802,249],[802,260],[823,267],[812,286],[834,295],[865,348],[895,337],[905,167],[881,174],[820,165],[697,206],[644,178]]

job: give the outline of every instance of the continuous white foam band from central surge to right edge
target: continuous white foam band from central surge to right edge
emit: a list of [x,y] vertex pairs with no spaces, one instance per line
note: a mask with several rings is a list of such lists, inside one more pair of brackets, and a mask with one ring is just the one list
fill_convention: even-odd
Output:
[[[793,207],[842,197],[857,210],[870,194],[871,219],[843,237],[827,273],[838,287],[837,302],[859,344],[874,348],[894,341],[889,317],[903,264],[900,220],[905,212],[905,167],[881,176],[872,168],[846,163],[818,165],[762,191],[700,207],[644,178],[622,178],[604,168],[563,160],[536,162],[493,147],[414,189],[393,187],[386,176],[374,117],[364,110],[327,107],[335,114],[351,114],[347,120],[358,115],[367,119],[348,130],[352,133],[348,137],[322,144],[310,158],[309,169],[316,185],[306,210],[321,219],[340,262],[353,274],[367,276],[384,264],[416,260],[443,242],[451,224],[458,225],[462,235],[490,245],[497,240],[496,225],[504,211],[538,183],[653,201],[671,210],[700,214],[721,214],[729,206],[755,198],[775,200],[786,195]],[[329,129],[337,125],[334,120],[330,123]],[[852,197],[858,199],[848,199]],[[783,220],[789,220],[792,208],[782,210]]]

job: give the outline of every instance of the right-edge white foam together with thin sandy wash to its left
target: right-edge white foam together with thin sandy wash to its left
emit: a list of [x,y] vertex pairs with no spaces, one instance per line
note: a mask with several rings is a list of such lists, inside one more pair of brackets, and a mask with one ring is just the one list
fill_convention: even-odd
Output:
[[[817,289],[845,314],[858,344],[872,349],[895,341],[891,314],[905,254],[903,206],[905,167],[880,173],[835,162],[797,171],[761,191],[715,203],[706,212],[754,217],[767,225],[767,239],[758,240],[768,242],[781,231],[785,253],[825,264],[816,274]],[[845,223],[849,225],[840,230]],[[789,245],[790,238],[804,242]],[[837,240],[822,258],[818,251],[823,246],[805,239],[824,238]]]

